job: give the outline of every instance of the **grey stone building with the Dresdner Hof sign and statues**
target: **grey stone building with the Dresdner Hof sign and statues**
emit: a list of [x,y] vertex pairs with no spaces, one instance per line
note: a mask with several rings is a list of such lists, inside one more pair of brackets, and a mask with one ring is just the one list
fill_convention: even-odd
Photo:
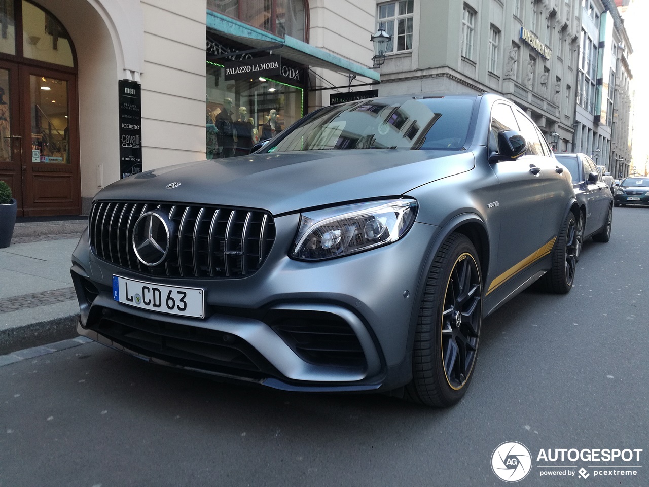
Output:
[[393,20],[383,13],[391,3],[413,12],[412,42],[393,45],[380,69],[380,94],[500,93],[528,112],[553,147],[572,151],[580,31],[574,1],[377,2],[377,25]]

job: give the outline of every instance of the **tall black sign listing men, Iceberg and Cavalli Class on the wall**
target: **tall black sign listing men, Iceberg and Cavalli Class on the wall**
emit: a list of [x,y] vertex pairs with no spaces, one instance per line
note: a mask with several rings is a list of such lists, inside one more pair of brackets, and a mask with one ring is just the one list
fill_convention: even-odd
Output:
[[119,177],[142,172],[140,84],[119,80]]

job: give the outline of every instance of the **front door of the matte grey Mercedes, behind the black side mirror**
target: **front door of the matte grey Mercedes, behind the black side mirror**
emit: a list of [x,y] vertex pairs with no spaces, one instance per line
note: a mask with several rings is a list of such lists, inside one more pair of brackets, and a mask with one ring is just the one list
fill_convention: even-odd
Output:
[[[497,134],[503,130],[519,131],[511,106],[496,102],[491,110],[489,151],[498,152]],[[535,171],[536,157],[523,155],[516,160],[493,162],[491,168],[499,182],[498,214],[500,215],[500,242],[498,243],[494,276],[487,293],[513,277],[526,266],[540,243],[540,225],[543,220],[543,177]]]

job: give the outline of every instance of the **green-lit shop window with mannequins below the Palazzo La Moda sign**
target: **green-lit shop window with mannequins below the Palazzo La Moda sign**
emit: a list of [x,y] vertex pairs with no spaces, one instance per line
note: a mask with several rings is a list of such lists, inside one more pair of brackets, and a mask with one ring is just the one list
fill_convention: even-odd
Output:
[[247,155],[302,118],[302,89],[263,77],[225,81],[219,64],[207,65],[206,155]]

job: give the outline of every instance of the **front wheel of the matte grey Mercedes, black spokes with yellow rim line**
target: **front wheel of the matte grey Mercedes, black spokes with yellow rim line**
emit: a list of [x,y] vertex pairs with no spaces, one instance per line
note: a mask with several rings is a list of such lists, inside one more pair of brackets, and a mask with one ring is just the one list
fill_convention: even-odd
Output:
[[463,397],[478,353],[482,297],[476,249],[466,236],[451,234],[426,278],[406,399],[448,407]]

